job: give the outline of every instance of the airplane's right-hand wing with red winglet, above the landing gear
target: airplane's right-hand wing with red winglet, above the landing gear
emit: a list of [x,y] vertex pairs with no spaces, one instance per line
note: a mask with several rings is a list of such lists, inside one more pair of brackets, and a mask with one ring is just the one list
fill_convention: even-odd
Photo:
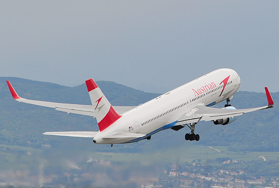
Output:
[[262,110],[266,108],[271,108],[274,105],[273,99],[268,91],[267,87],[265,87],[266,97],[268,101],[267,106],[261,106],[256,108],[248,108],[248,109],[225,109],[225,108],[213,108],[207,107],[204,105],[197,105],[187,111],[177,122],[175,125],[185,125],[190,123],[198,123],[199,121],[214,121],[224,118],[230,118],[235,116],[240,116],[247,112],[253,112],[256,110]]

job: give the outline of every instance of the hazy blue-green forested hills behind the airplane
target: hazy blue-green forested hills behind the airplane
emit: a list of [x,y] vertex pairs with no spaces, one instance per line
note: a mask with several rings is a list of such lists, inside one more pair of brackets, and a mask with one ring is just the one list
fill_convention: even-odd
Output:
[[[98,126],[93,117],[55,111],[52,108],[22,104],[16,102],[8,89],[9,80],[17,93],[33,100],[51,101],[72,104],[91,104],[85,84],[67,87],[59,84],[37,82],[20,78],[0,77],[0,143],[40,148],[45,145],[61,147],[65,142],[73,146],[90,145],[94,150],[111,149],[109,146],[97,146],[90,139],[46,136],[46,131],[96,131]],[[114,82],[96,82],[113,105],[139,105],[160,94],[145,93]],[[263,88],[264,92],[264,88]],[[229,125],[214,125],[212,122],[200,122],[196,125],[196,133],[200,134],[199,142],[194,145],[230,146],[234,151],[279,151],[279,120],[277,101],[279,93],[272,93],[275,107],[240,116]],[[225,103],[218,104],[223,107]],[[240,91],[231,104],[236,108],[250,108],[266,105],[265,93]],[[179,131],[171,129],[152,136],[150,141],[116,145],[114,152],[138,152],[152,148],[175,147],[187,145],[184,135],[188,128]],[[89,142],[89,143],[88,143]]]

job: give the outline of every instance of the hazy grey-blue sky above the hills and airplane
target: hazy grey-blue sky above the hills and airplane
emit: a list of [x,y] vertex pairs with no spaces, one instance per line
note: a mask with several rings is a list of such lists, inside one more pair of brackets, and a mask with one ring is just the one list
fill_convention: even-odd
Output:
[[279,91],[278,0],[0,1],[0,77],[164,93],[218,68]]

